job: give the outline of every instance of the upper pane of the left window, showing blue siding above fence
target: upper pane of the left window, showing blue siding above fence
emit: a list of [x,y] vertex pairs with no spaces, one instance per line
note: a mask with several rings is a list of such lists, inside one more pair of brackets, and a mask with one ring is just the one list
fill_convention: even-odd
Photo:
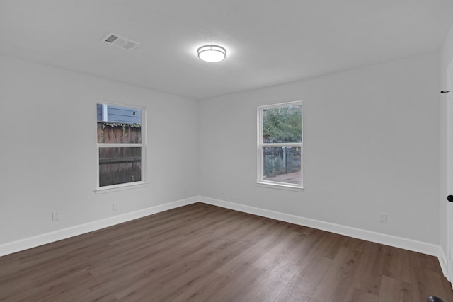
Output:
[[141,144],[142,110],[97,104],[98,143]]

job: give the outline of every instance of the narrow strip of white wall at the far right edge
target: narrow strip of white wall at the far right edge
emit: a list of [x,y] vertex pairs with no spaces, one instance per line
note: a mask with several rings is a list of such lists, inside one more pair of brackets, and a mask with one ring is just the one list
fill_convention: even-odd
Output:
[[[449,64],[453,64],[453,25],[440,50],[440,90],[445,91],[447,86],[447,71]],[[445,197],[452,194],[447,190],[447,93],[439,94],[440,98],[440,247],[448,255],[447,242],[447,201]]]

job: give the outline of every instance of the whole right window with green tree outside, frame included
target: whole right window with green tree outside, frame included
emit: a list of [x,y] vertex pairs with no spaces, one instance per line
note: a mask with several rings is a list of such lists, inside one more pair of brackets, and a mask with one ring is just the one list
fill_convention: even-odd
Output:
[[258,107],[258,184],[302,189],[302,101]]

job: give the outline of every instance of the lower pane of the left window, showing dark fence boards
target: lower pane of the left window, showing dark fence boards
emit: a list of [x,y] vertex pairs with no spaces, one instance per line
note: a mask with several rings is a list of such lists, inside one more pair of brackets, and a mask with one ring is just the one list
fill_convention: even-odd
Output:
[[99,148],[99,187],[142,180],[142,147]]

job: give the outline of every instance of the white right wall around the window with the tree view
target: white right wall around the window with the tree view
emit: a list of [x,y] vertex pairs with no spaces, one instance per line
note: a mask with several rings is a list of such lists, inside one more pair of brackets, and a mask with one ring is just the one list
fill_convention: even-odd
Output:
[[[438,244],[438,62],[425,54],[200,101],[200,194]],[[305,191],[257,187],[256,107],[293,100],[304,101]]]

